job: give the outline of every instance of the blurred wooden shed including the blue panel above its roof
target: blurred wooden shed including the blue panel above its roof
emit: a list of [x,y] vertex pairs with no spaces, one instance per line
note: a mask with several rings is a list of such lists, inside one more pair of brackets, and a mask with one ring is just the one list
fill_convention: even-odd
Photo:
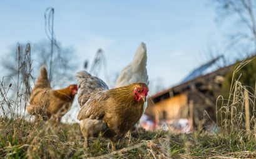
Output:
[[189,132],[193,128],[205,128],[216,122],[216,99],[231,65],[204,72],[220,59],[217,57],[198,67],[181,84],[148,98],[146,115],[153,119],[156,128]]

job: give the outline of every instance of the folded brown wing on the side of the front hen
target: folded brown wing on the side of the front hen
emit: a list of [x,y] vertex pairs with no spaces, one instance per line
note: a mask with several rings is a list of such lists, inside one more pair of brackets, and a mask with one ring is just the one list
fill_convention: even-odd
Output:
[[105,104],[108,99],[108,90],[102,90],[91,95],[90,99],[81,107],[78,112],[78,120],[85,118],[101,120],[105,115]]

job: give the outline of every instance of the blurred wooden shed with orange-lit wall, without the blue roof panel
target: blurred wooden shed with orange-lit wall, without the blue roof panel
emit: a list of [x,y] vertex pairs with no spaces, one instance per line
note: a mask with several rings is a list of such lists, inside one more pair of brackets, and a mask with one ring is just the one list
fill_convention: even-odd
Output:
[[193,127],[216,121],[215,102],[225,74],[230,66],[163,90],[148,99],[146,115],[157,124],[162,121],[188,118]]

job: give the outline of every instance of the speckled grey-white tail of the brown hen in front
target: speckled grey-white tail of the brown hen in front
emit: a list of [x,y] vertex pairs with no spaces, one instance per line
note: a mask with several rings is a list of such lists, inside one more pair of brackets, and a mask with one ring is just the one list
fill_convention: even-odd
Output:
[[76,73],[76,79],[78,79],[78,103],[82,107],[91,95],[100,90],[108,90],[108,85],[98,77],[94,77],[86,71],[80,71]]

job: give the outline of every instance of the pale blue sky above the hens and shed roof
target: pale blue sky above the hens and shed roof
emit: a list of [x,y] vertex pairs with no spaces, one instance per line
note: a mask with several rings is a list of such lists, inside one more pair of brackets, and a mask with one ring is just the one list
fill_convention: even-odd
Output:
[[142,41],[150,80],[162,79],[164,88],[207,62],[208,46],[223,44],[211,1],[1,1],[0,56],[16,42],[46,39],[47,7],[55,9],[57,40],[74,47],[81,68],[101,48],[108,74],[116,74],[130,63]]

